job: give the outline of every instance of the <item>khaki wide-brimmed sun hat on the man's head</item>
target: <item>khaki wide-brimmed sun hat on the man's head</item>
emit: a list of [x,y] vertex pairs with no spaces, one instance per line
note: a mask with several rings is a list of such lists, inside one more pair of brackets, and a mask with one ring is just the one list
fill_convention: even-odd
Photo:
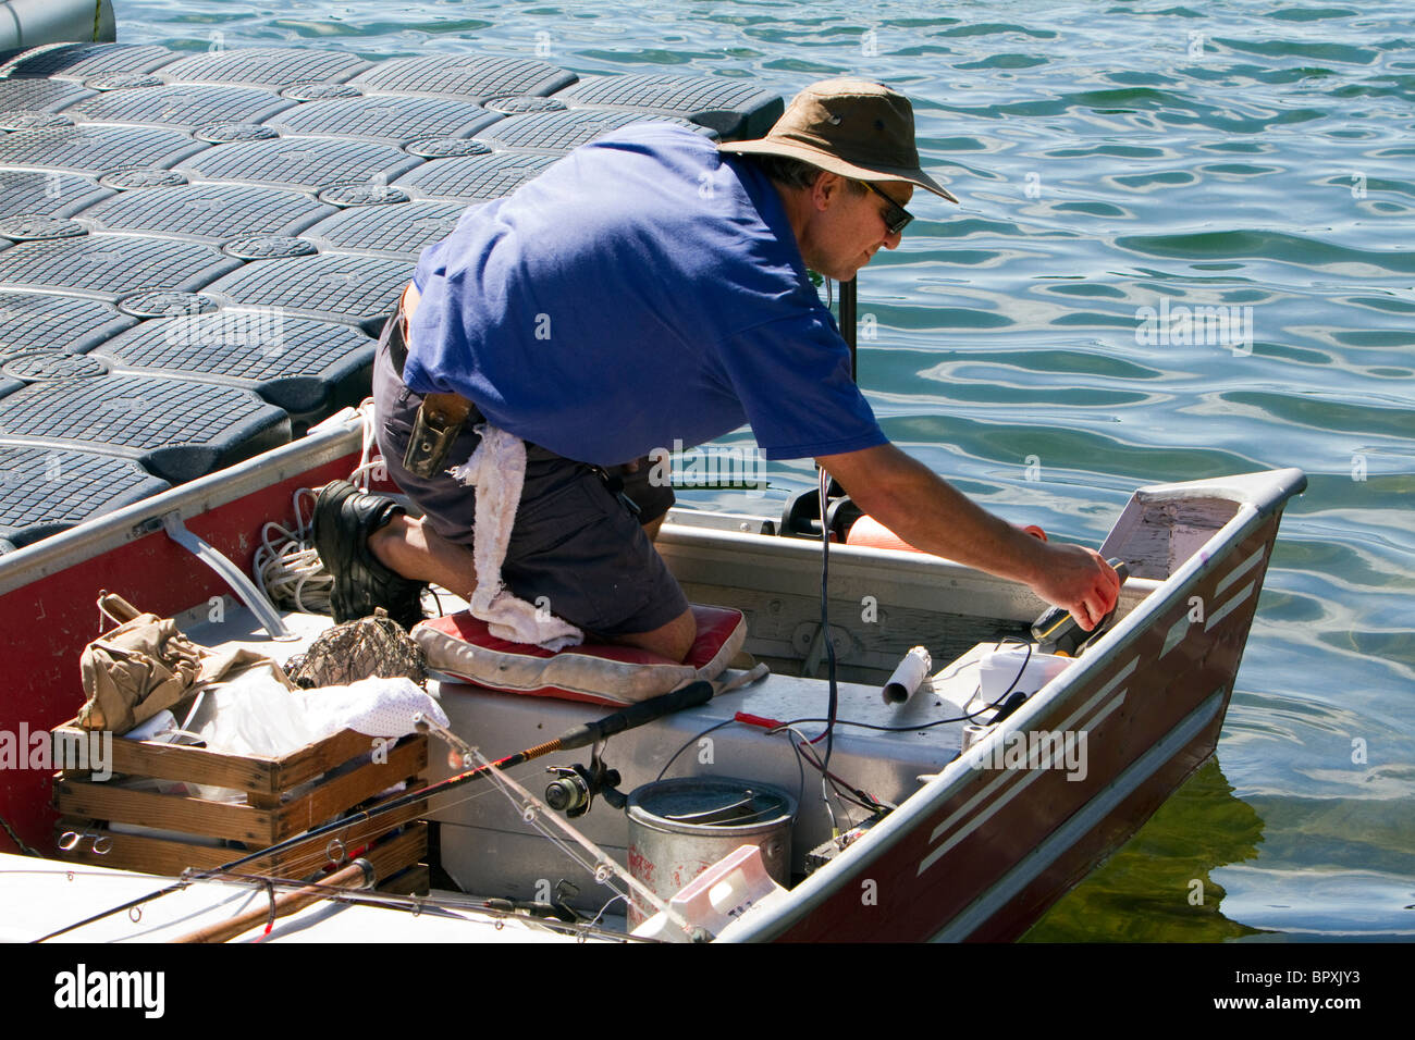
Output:
[[859,181],[908,181],[957,202],[918,166],[908,98],[867,79],[825,79],[791,99],[767,136],[717,146],[739,156],[787,156]]

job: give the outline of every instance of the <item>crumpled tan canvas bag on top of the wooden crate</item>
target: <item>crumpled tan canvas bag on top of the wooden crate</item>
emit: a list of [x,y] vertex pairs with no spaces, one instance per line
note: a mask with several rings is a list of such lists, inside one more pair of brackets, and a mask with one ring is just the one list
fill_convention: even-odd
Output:
[[115,620],[127,620],[79,657],[88,700],[78,724],[85,729],[126,733],[202,686],[256,666],[270,668],[293,689],[280,666],[255,651],[214,652],[183,635],[171,618],[139,614],[119,596],[102,593],[98,603]]

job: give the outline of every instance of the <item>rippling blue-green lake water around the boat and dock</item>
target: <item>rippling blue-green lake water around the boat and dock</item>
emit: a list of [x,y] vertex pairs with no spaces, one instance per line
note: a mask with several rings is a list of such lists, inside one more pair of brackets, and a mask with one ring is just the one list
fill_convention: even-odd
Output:
[[[1310,478],[1217,764],[1032,938],[1415,934],[1404,4],[116,4],[120,40],[185,50],[477,51],[908,93],[924,166],[962,205],[920,192],[903,246],[860,277],[860,381],[899,444],[1091,545],[1139,484]],[[1234,323],[1149,337],[1142,308],[1162,306]],[[771,514],[812,480],[770,478],[766,501],[683,498]]]

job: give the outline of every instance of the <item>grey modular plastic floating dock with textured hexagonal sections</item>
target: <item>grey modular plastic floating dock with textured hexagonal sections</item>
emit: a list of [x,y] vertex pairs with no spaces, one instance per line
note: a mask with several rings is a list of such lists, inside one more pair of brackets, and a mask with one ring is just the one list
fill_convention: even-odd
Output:
[[751,82],[531,58],[57,44],[0,55],[0,552],[301,436],[461,211]]

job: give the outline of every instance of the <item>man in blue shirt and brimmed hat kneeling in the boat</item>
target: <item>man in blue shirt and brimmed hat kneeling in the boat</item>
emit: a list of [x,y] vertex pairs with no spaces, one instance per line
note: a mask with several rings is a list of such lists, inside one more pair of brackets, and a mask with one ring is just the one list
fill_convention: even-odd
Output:
[[672,492],[625,460],[743,422],[767,458],[814,457],[911,545],[1024,582],[1094,627],[1115,572],[992,516],[891,446],[808,279],[849,280],[899,246],[916,185],[957,201],[920,170],[908,100],[839,79],[798,95],[763,140],[627,127],[468,209],[423,253],[375,364],[379,446],[424,518],[325,488],[316,539],[335,618],[386,606],[410,624],[423,583],[477,583],[474,492],[446,467],[403,464],[433,395],[471,408],[446,466],[471,456],[483,420],[525,440],[502,577],[603,641],[682,661],[696,632],[651,543]]

